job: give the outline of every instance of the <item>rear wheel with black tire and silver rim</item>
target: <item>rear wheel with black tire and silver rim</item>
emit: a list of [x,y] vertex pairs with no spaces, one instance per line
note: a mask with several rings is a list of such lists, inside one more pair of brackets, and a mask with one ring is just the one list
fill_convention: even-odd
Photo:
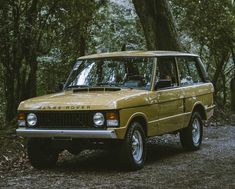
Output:
[[202,143],[203,122],[198,112],[193,112],[188,127],[180,131],[180,142],[187,151],[198,150]]

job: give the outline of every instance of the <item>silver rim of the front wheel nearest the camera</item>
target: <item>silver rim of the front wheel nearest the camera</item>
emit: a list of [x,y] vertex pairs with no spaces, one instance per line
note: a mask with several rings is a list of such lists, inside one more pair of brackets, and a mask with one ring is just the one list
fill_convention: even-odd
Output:
[[136,162],[141,161],[143,155],[143,139],[138,130],[132,135],[132,155]]

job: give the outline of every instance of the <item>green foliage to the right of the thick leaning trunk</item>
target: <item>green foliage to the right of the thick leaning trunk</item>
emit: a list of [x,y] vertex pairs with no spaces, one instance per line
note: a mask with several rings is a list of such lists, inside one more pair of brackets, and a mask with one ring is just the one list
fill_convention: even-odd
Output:
[[230,0],[172,0],[174,15],[187,50],[199,54],[215,86],[219,105],[230,103],[235,47],[235,14]]

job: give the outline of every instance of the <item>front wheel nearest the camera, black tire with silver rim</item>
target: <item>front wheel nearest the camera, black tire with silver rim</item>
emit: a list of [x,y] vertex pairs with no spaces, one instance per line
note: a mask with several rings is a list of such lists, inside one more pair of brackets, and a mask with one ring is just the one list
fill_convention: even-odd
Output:
[[146,160],[146,136],[140,123],[131,123],[120,151],[120,163],[124,169],[139,170],[143,168]]

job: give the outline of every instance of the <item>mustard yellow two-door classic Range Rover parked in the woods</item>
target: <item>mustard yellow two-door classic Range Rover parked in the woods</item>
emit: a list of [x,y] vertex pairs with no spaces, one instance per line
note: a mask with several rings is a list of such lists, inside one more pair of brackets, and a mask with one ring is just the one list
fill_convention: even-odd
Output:
[[213,85],[197,55],[127,51],[84,56],[62,92],[20,103],[17,134],[27,138],[35,168],[54,166],[63,150],[107,147],[137,170],[146,139],[178,133],[198,150],[204,120],[213,114]]

